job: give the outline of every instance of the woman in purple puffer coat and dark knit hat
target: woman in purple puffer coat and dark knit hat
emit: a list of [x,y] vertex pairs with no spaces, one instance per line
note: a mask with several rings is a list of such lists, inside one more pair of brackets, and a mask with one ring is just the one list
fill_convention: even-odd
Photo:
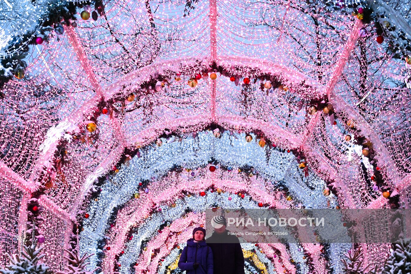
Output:
[[204,228],[194,228],[193,238],[187,240],[187,246],[182,250],[178,267],[186,274],[213,274],[212,251],[204,237]]

